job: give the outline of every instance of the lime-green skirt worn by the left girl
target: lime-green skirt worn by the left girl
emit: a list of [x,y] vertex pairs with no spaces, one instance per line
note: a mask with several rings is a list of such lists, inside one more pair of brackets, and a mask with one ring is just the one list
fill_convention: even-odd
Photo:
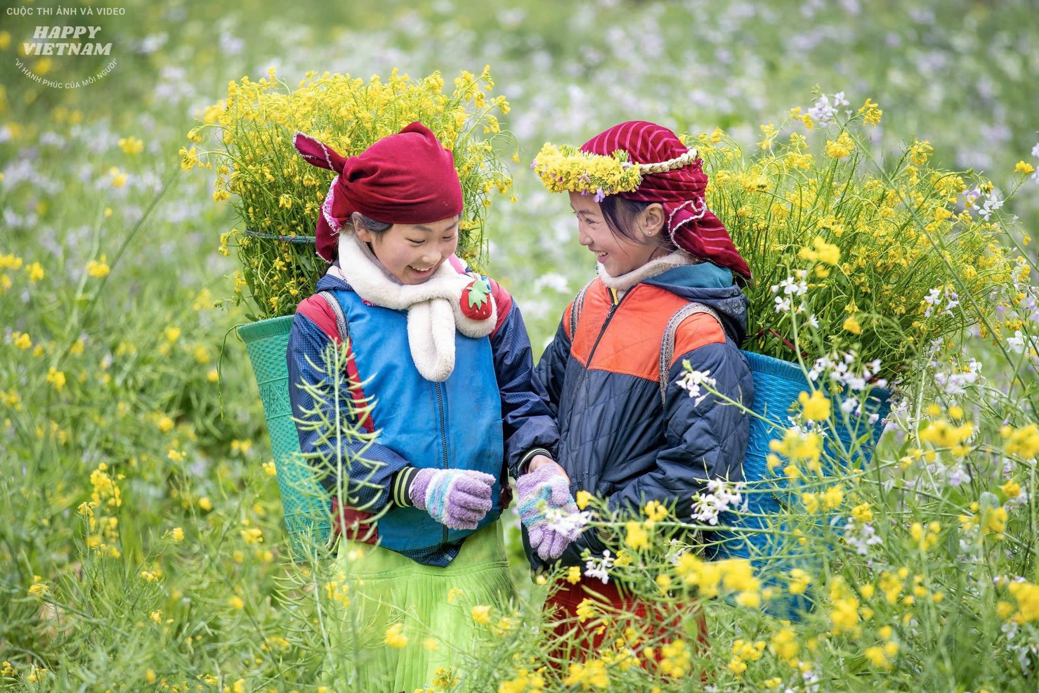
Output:
[[[352,540],[340,541],[336,560],[350,599],[348,608],[329,614],[338,661],[326,664],[322,678],[335,691],[431,688],[438,669],[475,655],[477,631],[486,627],[473,620],[473,607],[501,613],[515,594],[501,521],[467,537],[444,568]],[[398,646],[392,646],[387,632],[398,623],[390,638]]]

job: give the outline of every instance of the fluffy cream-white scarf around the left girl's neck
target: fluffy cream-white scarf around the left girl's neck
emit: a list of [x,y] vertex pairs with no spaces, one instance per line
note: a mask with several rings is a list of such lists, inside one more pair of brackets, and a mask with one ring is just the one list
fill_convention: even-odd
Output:
[[391,278],[368,244],[345,231],[339,238],[339,263],[328,269],[375,305],[407,311],[407,343],[411,361],[427,380],[443,382],[454,370],[455,329],[465,337],[486,337],[498,323],[498,306],[490,300],[490,317],[473,320],[461,312],[462,290],[476,276],[456,270],[447,260],[423,284],[406,285]]

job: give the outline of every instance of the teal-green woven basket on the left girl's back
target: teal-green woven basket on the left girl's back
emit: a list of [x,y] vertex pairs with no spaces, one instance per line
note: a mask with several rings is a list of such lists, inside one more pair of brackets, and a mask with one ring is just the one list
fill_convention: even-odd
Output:
[[302,557],[311,553],[308,547],[327,539],[329,513],[327,494],[296,455],[299,452],[299,436],[292,421],[289,367],[285,358],[290,329],[292,316],[287,315],[242,325],[238,328],[238,337],[248,349],[260,388],[292,551],[297,557]]

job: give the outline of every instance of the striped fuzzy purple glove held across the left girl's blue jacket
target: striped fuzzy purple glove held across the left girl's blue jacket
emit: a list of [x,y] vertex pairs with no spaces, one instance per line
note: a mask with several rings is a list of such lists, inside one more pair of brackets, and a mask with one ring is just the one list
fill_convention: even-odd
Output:
[[495,477],[472,470],[419,470],[409,496],[415,507],[453,530],[475,530],[490,510]]

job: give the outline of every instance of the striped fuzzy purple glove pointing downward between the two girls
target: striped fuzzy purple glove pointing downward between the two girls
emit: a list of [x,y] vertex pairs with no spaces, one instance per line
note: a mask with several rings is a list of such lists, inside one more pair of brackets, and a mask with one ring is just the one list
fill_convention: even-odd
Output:
[[550,512],[570,517],[578,514],[578,504],[570,496],[566,477],[552,464],[542,464],[516,480],[516,509],[527,528],[530,548],[537,551],[541,560],[559,558],[584,524],[575,522],[569,523],[570,527],[560,528],[557,523],[550,522]]

